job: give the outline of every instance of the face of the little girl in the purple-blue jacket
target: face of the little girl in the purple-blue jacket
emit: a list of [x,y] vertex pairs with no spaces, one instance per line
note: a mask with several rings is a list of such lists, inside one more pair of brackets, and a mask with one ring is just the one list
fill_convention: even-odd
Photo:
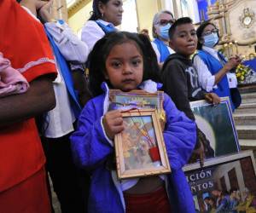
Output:
[[114,89],[130,91],[143,81],[143,55],[136,43],[116,44],[106,60],[105,77]]

